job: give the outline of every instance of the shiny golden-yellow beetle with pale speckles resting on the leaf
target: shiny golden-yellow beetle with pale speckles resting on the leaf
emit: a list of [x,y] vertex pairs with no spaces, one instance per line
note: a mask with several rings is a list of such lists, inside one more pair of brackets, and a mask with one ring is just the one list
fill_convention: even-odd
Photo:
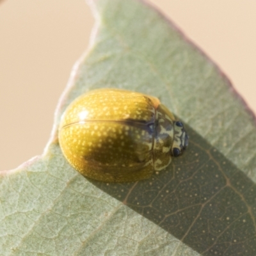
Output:
[[159,99],[112,88],[74,100],[61,117],[58,138],[76,170],[104,182],[147,179],[188,146],[183,124]]

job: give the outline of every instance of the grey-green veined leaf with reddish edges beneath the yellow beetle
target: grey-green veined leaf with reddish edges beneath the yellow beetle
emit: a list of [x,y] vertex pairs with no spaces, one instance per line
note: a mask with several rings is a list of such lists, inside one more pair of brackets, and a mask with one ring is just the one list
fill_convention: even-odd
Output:
[[[256,255],[255,118],[220,70],[138,0],[90,1],[92,44],[56,109],[43,156],[0,179],[1,255]],[[189,147],[148,180],[80,175],[58,145],[67,105],[95,88],[159,97]]]

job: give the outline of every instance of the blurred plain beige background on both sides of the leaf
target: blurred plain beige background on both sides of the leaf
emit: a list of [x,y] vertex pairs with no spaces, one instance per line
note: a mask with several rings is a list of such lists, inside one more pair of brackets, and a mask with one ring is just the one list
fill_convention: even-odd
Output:
[[[256,1],[150,2],[221,67],[256,113]],[[92,25],[84,0],[0,0],[0,170],[42,154]]]

